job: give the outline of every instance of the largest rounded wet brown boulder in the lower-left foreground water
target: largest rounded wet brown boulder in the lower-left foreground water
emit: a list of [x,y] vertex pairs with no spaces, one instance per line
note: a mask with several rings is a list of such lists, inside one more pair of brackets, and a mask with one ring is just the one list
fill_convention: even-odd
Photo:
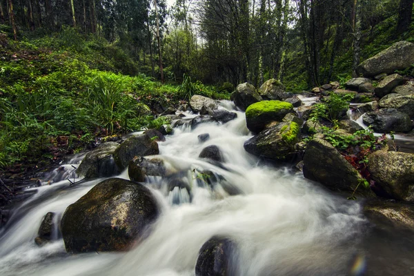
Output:
[[148,188],[125,179],[106,179],[66,208],[61,219],[63,241],[70,253],[128,250],[158,215]]

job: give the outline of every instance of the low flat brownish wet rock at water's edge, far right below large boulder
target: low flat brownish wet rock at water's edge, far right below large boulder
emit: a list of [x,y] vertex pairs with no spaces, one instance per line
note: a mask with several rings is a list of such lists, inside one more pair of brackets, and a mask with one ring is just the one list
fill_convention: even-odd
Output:
[[397,226],[414,229],[414,205],[391,201],[373,201],[364,206],[364,215],[368,218],[388,219]]

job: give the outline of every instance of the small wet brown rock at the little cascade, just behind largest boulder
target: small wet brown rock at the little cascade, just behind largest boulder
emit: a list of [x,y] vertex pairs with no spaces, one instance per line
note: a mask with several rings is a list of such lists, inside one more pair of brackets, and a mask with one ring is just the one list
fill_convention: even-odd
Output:
[[128,175],[132,181],[144,182],[147,176],[167,175],[164,160],[159,158],[146,159],[135,157],[128,166]]

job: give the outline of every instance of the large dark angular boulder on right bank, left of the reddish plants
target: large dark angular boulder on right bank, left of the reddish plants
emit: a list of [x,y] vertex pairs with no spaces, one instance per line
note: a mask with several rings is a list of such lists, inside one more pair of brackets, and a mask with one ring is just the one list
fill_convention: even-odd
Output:
[[[332,190],[353,192],[364,178],[328,141],[313,139],[306,146],[304,177],[318,181]],[[357,193],[373,195],[371,189],[359,185]]]

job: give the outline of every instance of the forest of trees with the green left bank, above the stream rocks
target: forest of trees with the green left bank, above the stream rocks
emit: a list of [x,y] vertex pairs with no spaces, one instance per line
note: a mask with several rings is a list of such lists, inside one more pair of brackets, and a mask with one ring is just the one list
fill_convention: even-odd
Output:
[[412,11],[412,0],[1,0],[0,165],[152,124],[141,104],[229,99],[273,78],[289,92],[343,85],[360,61],[414,41]]

